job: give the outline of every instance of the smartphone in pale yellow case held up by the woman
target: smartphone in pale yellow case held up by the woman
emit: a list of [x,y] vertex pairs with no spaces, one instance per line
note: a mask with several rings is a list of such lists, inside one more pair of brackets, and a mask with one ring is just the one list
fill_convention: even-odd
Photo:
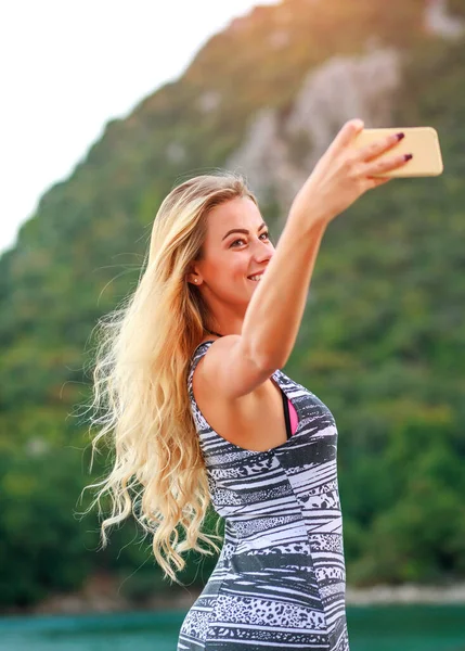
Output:
[[405,137],[393,145],[392,149],[384,152],[378,158],[389,157],[395,154],[413,154],[405,165],[398,169],[384,171],[373,175],[379,177],[428,177],[439,176],[443,171],[441,148],[439,146],[438,132],[432,127],[396,127],[383,129],[363,129],[354,142],[353,146],[360,149],[370,144],[374,140],[379,140],[389,133],[405,133]]

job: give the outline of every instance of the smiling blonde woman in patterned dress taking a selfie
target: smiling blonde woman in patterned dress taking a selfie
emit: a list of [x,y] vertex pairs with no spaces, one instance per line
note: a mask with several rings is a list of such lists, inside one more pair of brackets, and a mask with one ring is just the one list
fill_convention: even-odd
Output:
[[[348,122],[295,197],[276,248],[234,174],[175,188],[154,220],[127,305],[102,321],[93,444],[112,435],[105,529],[131,513],[176,579],[182,552],[218,547],[178,651],[349,649],[337,429],[328,408],[281,369],[293,350],[326,226],[374,178],[405,164],[402,133],[356,151]],[[94,502],[95,503],[95,502]],[[211,553],[211,552],[210,552]]]

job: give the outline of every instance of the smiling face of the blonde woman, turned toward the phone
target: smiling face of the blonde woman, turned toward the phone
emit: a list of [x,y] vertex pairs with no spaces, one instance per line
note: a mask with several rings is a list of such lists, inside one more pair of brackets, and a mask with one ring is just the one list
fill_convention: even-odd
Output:
[[[193,284],[199,288],[214,312],[223,305],[244,307],[264,271],[274,246],[257,205],[248,197],[235,197],[208,214],[204,256],[194,266]],[[197,282],[195,282],[195,278]]]

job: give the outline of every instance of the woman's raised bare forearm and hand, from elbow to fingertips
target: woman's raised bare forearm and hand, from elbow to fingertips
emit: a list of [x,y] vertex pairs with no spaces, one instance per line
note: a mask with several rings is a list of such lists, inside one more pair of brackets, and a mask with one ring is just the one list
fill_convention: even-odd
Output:
[[346,123],[297,193],[274,255],[247,306],[243,346],[261,368],[284,367],[294,348],[327,224],[367,190],[390,180],[373,175],[406,162],[395,153],[376,161],[402,135],[353,149],[351,143],[362,129],[362,120]]

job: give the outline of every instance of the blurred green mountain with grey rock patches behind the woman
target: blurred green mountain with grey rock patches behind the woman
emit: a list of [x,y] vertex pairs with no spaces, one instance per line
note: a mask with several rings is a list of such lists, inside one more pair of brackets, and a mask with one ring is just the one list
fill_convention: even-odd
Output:
[[[0,604],[98,572],[168,590],[128,523],[96,552],[76,518],[88,474],[79,406],[98,318],[138,281],[180,180],[242,169],[279,238],[341,124],[435,127],[444,174],[396,180],[328,227],[286,373],[339,430],[348,583],[465,576],[465,10],[460,1],[287,0],[233,21],[185,74],[111,120],[0,258]],[[193,559],[194,560],[194,559]],[[215,559],[181,576],[202,584]],[[144,565],[142,567],[142,565]],[[156,582],[154,579],[156,577]]]

